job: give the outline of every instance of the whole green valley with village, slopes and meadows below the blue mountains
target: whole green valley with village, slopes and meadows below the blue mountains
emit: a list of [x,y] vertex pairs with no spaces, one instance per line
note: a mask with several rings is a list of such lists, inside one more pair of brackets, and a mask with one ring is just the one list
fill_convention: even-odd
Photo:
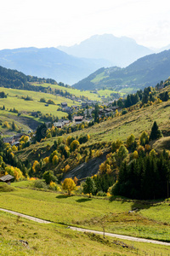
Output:
[[167,256],[168,77],[156,86],[141,82],[116,90],[105,87],[110,75],[101,70],[90,83],[103,88],[78,90],[1,71],[0,180],[12,177],[12,183],[0,183],[0,207],[52,222],[33,223],[1,211],[3,255]]

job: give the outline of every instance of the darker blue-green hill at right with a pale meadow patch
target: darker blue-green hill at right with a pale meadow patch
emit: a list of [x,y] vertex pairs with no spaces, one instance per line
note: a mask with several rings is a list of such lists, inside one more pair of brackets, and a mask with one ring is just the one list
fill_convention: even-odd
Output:
[[[133,90],[156,85],[168,78],[170,73],[170,50],[152,54],[134,61],[126,68],[102,68],[88,78],[74,84],[77,89],[102,88],[103,86],[121,90],[122,85],[128,85]],[[118,86],[117,86],[118,85]]]

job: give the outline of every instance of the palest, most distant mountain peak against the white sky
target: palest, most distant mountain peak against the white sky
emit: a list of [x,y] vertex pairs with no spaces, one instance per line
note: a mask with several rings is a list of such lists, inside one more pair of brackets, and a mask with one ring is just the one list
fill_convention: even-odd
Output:
[[153,53],[151,49],[137,44],[132,38],[116,38],[111,34],[95,35],[81,44],[71,47],[59,46],[58,49],[77,57],[105,59],[111,61],[112,66],[118,67],[127,67],[140,57]]

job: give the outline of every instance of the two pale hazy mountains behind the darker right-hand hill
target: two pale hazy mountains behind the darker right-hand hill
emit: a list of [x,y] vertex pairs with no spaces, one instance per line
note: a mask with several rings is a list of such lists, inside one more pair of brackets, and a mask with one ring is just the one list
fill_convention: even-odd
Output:
[[0,50],[0,66],[26,75],[75,84],[100,67],[125,67],[152,53],[132,38],[96,35],[71,47]]

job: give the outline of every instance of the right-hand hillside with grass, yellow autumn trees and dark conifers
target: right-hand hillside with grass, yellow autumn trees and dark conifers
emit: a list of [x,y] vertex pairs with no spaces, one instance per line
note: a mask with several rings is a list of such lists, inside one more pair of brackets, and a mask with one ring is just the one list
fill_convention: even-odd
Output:
[[[170,137],[169,83],[168,79],[156,88],[148,87],[128,95],[126,100],[113,102],[113,106],[122,110],[116,109],[109,117],[99,117],[96,105],[93,121],[62,129],[42,124],[31,133],[30,139],[26,135],[21,137],[17,146],[1,141],[1,173],[8,172],[16,179],[48,175],[54,183],[60,183],[65,174],[72,173],[75,182],[81,183],[72,170],[79,166],[78,172],[83,173],[77,176],[86,178],[90,176],[88,162],[94,159],[94,165],[96,159],[99,167],[93,173],[94,195],[103,191],[140,199],[165,197],[165,184],[170,182],[170,161],[169,149],[167,144],[162,147],[162,140],[167,137],[169,141]],[[161,150],[159,143],[154,146],[159,140]],[[101,156],[103,162],[98,161]],[[153,180],[154,188],[150,186]]]

